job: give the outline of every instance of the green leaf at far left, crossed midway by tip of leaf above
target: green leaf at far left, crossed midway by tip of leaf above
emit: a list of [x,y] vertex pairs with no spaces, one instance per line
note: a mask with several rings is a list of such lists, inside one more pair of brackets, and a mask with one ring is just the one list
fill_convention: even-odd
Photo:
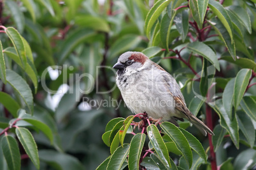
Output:
[[[4,53],[8,55],[13,61],[15,61],[22,69],[24,69],[22,63],[20,62],[20,58],[18,58],[14,48],[6,48],[4,49]],[[27,60],[27,64],[24,70],[33,82],[36,93],[38,89],[38,72],[36,71],[34,63],[32,63],[31,60]]]

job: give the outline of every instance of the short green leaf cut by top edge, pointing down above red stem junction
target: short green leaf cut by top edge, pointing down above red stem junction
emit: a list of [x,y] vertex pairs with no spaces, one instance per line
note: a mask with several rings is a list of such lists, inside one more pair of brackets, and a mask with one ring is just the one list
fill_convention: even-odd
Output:
[[[204,1],[204,0],[202,0],[202,1]],[[199,13],[199,5],[197,3],[198,3],[197,0],[190,0],[190,1],[188,1],[189,8],[190,8],[190,11],[192,13],[192,16],[193,16],[195,22],[197,23],[199,29],[202,29],[203,22],[201,20],[201,16],[199,16],[200,15],[200,13]],[[201,10],[203,10],[203,9],[201,9]]]

